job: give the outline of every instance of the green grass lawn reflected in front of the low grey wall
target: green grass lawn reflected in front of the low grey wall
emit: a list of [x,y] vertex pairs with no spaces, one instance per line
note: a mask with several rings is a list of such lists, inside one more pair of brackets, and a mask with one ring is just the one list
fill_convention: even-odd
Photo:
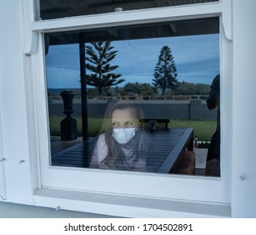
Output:
[[[61,120],[63,118],[51,117],[51,135],[61,135]],[[77,120],[77,135],[82,136],[82,118]],[[88,118],[88,134],[96,136],[101,128],[103,118]],[[211,135],[215,132],[216,122],[214,121],[191,121],[191,120],[171,120],[169,128],[194,128],[194,135],[199,141],[210,141]]]

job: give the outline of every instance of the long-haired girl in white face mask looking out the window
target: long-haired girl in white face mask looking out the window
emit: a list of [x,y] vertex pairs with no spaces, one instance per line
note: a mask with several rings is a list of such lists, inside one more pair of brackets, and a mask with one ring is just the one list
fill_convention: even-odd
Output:
[[145,132],[140,128],[141,109],[131,102],[112,101],[90,164],[92,168],[147,171]]

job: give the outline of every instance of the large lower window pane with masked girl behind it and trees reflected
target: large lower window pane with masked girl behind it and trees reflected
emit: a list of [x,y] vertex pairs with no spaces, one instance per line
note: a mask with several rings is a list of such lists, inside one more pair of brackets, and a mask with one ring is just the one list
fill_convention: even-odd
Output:
[[219,175],[219,18],[45,34],[45,51],[51,164]]

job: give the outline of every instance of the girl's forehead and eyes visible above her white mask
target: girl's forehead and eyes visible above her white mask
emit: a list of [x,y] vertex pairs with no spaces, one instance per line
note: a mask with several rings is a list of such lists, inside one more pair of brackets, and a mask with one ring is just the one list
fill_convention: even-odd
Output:
[[138,119],[132,108],[115,109],[112,112],[112,128],[136,128]]

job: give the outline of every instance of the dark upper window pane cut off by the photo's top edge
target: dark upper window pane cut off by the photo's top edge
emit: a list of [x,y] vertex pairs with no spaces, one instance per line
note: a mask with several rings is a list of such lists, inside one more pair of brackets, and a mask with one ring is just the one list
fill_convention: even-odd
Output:
[[162,8],[219,0],[40,0],[40,18],[64,18],[79,15],[113,13],[142,8]]

